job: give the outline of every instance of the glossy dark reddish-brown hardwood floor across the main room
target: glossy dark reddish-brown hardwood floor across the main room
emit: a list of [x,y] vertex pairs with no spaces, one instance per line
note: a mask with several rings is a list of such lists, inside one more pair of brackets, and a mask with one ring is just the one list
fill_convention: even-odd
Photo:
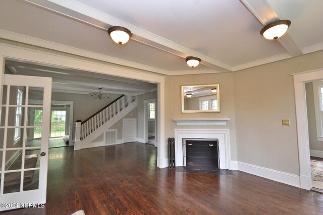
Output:
[[4,214],[322,214],[323,195],[234,171],[158,169],[156,150],[130,143],[49,150],[45,208]]

